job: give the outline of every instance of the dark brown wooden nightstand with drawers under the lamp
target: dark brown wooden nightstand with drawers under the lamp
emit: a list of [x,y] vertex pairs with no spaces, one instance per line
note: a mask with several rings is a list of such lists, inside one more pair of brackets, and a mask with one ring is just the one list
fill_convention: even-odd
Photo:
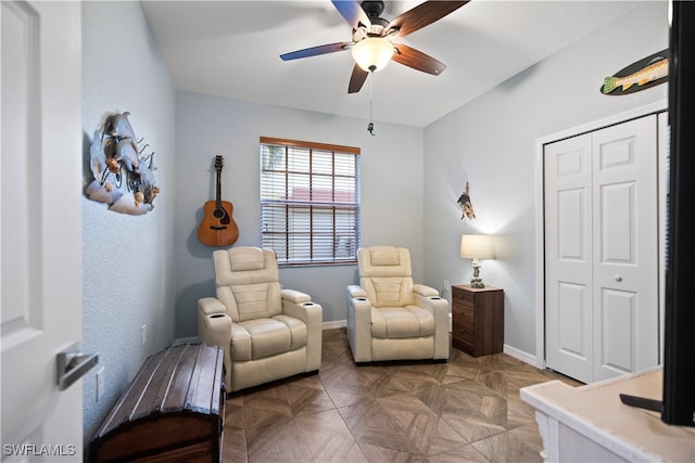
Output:
[[472,357],[502,352],[504,291],[452,286],[452,345]]

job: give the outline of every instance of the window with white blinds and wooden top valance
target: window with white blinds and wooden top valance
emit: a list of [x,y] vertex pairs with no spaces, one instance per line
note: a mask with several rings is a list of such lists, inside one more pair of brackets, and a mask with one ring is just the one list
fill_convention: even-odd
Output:
[[356,262],[359,149],[261,137],[261,234],[280,265]]

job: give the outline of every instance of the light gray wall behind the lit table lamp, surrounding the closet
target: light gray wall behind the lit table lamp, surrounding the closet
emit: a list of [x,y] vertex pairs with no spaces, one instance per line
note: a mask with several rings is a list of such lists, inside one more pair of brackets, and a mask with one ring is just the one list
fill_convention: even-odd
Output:
[[[505,344],[535,351],[535,141],[667,98],[667,86],[607,97],[603,79],[668,48],[667,2],[626,16],[518,74],[425,129],[425,275],[441,286],[470,280],[462,233],[496,235],[483,280],[505,291]],[[477,218],[462,221],[466,181]],[[451,298],[450,294],[445,294]]]

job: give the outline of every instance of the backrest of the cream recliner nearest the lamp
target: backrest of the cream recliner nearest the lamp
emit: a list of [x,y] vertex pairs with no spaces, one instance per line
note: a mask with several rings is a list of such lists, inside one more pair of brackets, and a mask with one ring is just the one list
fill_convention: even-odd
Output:
[[371,246],[357,252],[359,285],[374,307],[413,304],[410,252],[405,247]]

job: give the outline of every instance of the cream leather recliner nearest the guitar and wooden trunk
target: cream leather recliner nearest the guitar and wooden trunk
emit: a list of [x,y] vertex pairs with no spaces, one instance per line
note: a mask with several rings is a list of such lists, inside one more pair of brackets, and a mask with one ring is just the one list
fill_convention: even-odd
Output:
[[275,252],[232,247],[215,250],[213,260],[217,297],[198,300],[198,334],[225,349],[227,393],[317,372],[321,306],[280,288]]

